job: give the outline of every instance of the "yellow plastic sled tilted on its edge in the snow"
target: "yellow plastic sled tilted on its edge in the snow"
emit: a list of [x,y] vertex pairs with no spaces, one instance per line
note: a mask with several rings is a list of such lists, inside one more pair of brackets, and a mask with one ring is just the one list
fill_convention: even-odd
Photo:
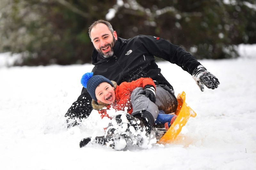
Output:
[[178,94],[178,107],[176,115],[178,116],[173,122],[172,126],[165,132],[165,134],[159,139],[158,144],[169,144],[179,135],[181,129],[188,122],[189,117],[196,117],[196,113],[185,102],[186,94],[183,91]]

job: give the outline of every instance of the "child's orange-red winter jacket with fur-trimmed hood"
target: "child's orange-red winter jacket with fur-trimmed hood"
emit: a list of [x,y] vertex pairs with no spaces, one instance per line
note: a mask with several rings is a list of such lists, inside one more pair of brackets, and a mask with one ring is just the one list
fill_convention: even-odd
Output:
[[101,118],[109,115],[107,110],[110,108],[115,109],[116,111],[122,110],[127,111],[129,114],[132,114],[132,103],[131,103],[131,94],[132,91],[137,87],[144,88],[146,85],[152,85],[156,89],[156,85],[151,78],[139,78],[132,82],[123,82],[120,85],[116,85],[116,82],[112,81],[115,87],[116,100],[112,104],[105,104],[102,102],[97,103],[92,100],[92,107],[95,110],[98,110]]

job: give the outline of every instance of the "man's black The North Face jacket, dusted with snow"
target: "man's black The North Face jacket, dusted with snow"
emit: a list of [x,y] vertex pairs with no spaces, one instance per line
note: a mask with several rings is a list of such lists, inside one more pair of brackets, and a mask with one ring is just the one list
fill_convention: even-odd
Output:
[[[173,91],[171,84],[161,74],[154,56],[177,64],[191,75],[193,70],[200,65],[190,53],[167,40],[138,35],[127,40],[118,37],[114,47],[114,56],[108,59],[94,49],[92,64],[95,66],[92,72],[93,75],[102,75],[109,80],[116,81],[118,85],[124,81],[131,82],[141,77],[150,77],[156,85],[167,85]],[[68,122],[73,123],[75,117],[87,118],[92,111],[91,100],[89,93],[83,88],[81,95],[65,115],[68,116]],[[73,124],[76,123],[75,121]]]

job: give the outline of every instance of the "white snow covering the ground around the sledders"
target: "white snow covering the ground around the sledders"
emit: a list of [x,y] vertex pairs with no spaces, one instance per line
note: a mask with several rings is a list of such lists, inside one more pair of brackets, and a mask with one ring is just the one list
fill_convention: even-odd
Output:
[[[160,62],[176,95],[186,92],[196,112],[172,144],[114,151],[79,148],[84,137],[103,134],[93,111],[82,125],[67,129],[64,115],[79,96],[80,79],[91,64],[7,67],[0,55],[0,168],[56,169],[256,169],[256,46],[240,45],[242,57],[200,60],[220,80],[201,92],[178,66]],[[4,63],[3,63],[4,62]]]

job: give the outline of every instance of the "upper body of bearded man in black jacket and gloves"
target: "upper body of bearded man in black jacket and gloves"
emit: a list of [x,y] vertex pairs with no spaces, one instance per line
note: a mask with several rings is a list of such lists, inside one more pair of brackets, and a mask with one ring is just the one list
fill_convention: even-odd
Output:
[[[141,77],[152,78],[156,85],[163,87],[173,96],[174,100],[170,104],[172,108],[177,108],[177,99],[172,85],[161,74],[154,56],[177,64],[187,71],[196,80],[201,91],[204,91],[204,85],[215,89],[220,84],[219,80],[208,72],[194,56],[159,37],[138,35],[127,40],[122,39],[117,37],[111,24],[104,20],[95,21],[89,27],[89,35],[94,46],[92,52],[92,64],[95,65],[92,69],[94,75],[102,75],[114,80],[117,85]],[[82,118],[90,115],[91,101],[89,93],[83,88],[81,95],[65,115],[68,127],[79,124]]]

